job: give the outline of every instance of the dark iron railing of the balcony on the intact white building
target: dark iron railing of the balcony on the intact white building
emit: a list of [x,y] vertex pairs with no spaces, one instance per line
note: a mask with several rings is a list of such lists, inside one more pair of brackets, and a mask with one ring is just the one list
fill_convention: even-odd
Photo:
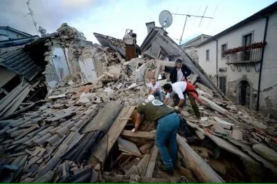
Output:
[[250,48],[235,53],[225,54],[226,64],[257,63],[262,59],[263,48]]

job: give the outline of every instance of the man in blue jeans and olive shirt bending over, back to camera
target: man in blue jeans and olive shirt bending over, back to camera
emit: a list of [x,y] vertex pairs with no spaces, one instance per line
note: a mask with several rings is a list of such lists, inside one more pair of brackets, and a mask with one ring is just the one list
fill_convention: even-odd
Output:
[[[177,130],[179,127],[177,113],[168,108],[167,105],[163,105],[161,101],[155,100],[153,95],[148,96],[148,99],[141,103],[136,110],[138,114],[136,116],[134,132],[139,130],[143,116],[148,121],[156,122],[155,143],[164,164],[161,170],[168,172],[172,176],[177,162]],[[170,150],[169,153],[166,148],[167,143]]]

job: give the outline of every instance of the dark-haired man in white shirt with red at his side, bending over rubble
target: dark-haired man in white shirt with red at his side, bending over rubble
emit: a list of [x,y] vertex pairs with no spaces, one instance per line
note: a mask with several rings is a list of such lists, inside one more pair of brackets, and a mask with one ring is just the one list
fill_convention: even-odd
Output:
[[175,102],[175,105],[177,105],[175,106],[175,110],[179,111],[180,108],[183,108],[184,101],[186,98],[185,94],[188,94],[188,99],[190,101],[190,105],[193,108],[193,111],[195,112],[195,116],[197,117],[197,119],[201,118],[198,105],[195,102],[195,100],[199,101],[198,93],[195,90],[195,86],[192,83],[188,81],[180,81],[173,83],[172,85],[170,83],[166,83],[165,85],[163,85],[163,89],[167,92],[166,99],[165,101],[163,101],[164,104],[167,105],[169,99],[173,97],[173,101]]

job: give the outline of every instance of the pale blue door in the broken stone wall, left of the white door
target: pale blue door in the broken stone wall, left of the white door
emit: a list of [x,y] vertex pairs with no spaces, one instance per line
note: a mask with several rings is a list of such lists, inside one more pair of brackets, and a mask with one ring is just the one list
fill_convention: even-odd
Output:
[[52,57],[55,70],[57,72],[57,78],[62,81],[66,76],[69,76],[69,65],[67,65],[64,51],[62,48],[55,48]]

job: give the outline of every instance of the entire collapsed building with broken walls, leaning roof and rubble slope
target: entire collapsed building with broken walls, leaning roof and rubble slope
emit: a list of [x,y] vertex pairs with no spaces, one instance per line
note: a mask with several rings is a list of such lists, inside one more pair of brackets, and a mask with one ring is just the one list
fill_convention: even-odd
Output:
[[[166,31],[149,30],[141,59],[125,60],[122,39],[94,33],[100,45],[93,44],[66,23],[11,50],[12,57],[8,51],[0,55],[6,65],[1,74],[13,71],[21,79],[21,92],[11,89],[13,97],[1,103],[4,112],[13,111],[0,121],[1,182],[276,182],[276,121],[233,105]],[[18,52],[25,57],[9,62],[17,61]],[[144,121],[136,134],[131,130],[135,105],[148,95],[145,85],[162,72],[167,76],[177,58],[193,72],[188,80],[197,85],[202,119],[195,119],[189,102],[181,111],[183,126],[197,139],[186,140],[179,131],[180,167],[169,177],[158,167],[154,123]],[[5,79],[7,88],[17,88]],[[37,96],[42,100],[24,102],[42,84],[44,94]]]

